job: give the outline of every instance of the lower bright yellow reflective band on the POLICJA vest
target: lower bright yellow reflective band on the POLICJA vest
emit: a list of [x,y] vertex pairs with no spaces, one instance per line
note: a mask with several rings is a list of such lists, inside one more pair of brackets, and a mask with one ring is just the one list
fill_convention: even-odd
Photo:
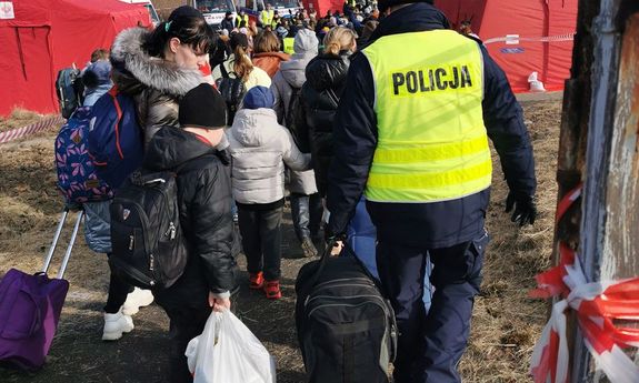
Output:
[[492,162],[490,158],[476,165],[449,170],[446,172],[383,174],[371,169],[368,177],[367,188],[432,189],[449,187],[449,193],[451,196],[455,196],[455,194],[459,194],[456,193],[456,191],[463,190],[463,183],[478,180],[483,177],[490,178],[491,172]]

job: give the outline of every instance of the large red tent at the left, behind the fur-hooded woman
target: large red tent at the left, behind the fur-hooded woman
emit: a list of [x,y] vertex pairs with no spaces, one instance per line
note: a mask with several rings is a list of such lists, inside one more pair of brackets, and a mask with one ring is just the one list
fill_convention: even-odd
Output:
[[14,107],[58,111],[60,69],[83,68],[119,31],[150,23],[143,7],[118,0],[13,0],[12,7],[0,19],[0,115]]

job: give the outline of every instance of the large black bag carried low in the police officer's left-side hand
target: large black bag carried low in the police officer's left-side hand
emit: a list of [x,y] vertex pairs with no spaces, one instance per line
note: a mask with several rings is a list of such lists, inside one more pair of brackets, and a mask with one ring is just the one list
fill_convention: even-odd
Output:
[[331,256],[331,248],[303,265],[296,282],[296,326],[308,382],[388,383],[397,354],[390,302],[350,248],[340,256]]

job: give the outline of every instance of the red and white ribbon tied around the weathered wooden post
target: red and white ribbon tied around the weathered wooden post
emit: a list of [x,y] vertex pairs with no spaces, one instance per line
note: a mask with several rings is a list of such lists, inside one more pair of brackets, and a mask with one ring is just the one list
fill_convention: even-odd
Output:
[[[580,195],[581,185],[569,192],[558,205],[559,221]],[[566,311],[573,310],[585,343],[597,366],[612,383],[639,382],[639,367],[623,349],[639,346],[639,330],[616,326],[615,320],[639,321],[639,278],[616,282],[588,282],[576,252],[559,244],[559,265],[537,275],[532,298],[562,296],[535,345],[530,374],[536,383],[567,383],[570,359],[566,333]]]

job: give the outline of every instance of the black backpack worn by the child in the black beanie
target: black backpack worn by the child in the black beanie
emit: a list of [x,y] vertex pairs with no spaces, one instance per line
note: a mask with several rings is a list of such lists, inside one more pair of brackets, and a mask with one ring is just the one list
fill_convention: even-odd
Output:
[[110,206],[111,271],[142,289],[171,286],[187,265],[174,172],[134,171]]

